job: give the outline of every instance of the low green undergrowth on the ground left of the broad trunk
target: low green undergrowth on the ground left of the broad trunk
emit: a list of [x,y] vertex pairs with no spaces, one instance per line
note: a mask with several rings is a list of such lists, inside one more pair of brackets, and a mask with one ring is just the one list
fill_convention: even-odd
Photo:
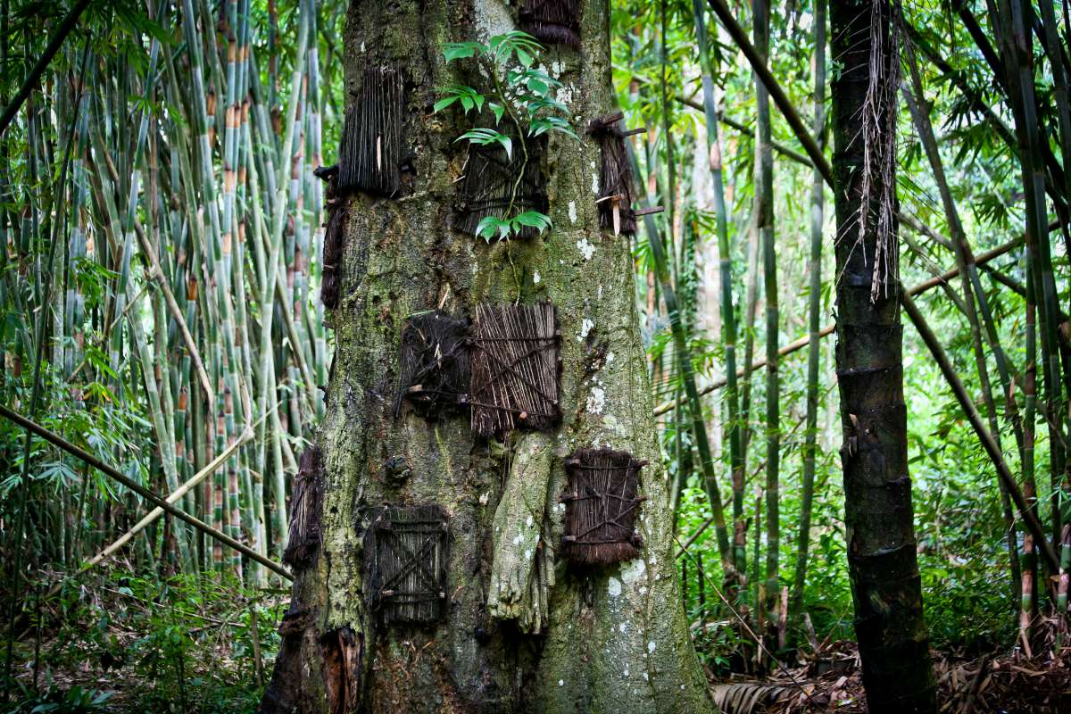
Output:
[[31,599],[0,712],[255,712],[285,599],[218,573],[157,581],[117,569],[69,581],[40,608]]

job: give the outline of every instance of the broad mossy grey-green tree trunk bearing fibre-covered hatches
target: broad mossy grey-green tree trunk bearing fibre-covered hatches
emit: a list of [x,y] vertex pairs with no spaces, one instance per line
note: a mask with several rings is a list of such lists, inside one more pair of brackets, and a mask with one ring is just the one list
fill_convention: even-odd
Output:
[[[523,3],[522,3],[523,4]],[[558,3],[568,5],[570,3]],[[486,43],[516,27],[499,0],[355,1],[344,37],[347,89],[364,69],[404,78],[403,137],[411,189],[344,198],[347,223],[335,356],[317,443],[323,455],[319,552],[298,571],[283,650],[262,711],[713,711],[689,638],[670,549],[668,484],[651,416],[627,236],[600,230],[599,145],[587,123],[615,109],[608,7],[582,6],[579,51],[540,59],[563,87],[580,137],[545,153],[554,227],[485,242],[452,230],[466,150],[479,124],[435,113],[436,88],[480,87],[446,42]],[[408,316],[441,307],[553,302],[561,331],[561,425],[471,432],[468,414],[394,415],[398,345]],[[639,557],[603,567],[565,563],[563,459],[577,447],[628,451],[648,465],[636,520]],[[447,513],[442,617],[422,626],[377,622],[368,605],[365,535],[373,507],[436,504]],[[292,508],[295,512],[298,510]]]

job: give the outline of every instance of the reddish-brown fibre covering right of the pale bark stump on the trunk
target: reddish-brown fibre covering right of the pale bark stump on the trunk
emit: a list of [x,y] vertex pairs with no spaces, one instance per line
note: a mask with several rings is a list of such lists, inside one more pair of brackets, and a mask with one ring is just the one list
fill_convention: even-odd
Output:
[[564,558],[608,565],[639,555],[643,541],[633,527],[645,500],[638,492],[639,469],[646,465],[613,449],[577,449],[565,459]]

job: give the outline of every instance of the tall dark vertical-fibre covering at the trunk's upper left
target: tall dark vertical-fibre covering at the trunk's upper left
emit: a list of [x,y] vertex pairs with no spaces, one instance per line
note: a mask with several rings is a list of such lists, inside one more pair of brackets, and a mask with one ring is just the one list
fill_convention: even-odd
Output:
[[391,67],[367,69],[353,104],[346,109],[338,189],[394,196],[402,163],[402,73]]

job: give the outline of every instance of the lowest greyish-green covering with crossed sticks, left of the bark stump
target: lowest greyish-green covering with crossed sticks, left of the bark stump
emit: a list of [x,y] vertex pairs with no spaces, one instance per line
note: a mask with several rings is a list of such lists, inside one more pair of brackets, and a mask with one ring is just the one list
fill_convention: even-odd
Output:
[[365,535],[369,609],[381,622],[435,622],[447,605],[447,512],[438,505],[373,512]]

